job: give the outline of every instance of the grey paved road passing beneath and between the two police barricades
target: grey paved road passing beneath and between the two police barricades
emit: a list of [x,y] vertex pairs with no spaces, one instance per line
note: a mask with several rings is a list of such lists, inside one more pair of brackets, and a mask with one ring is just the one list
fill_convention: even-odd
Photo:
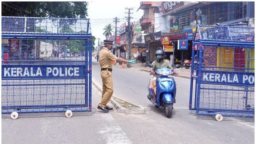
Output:
[[[93,59],[94,60],[94,59]],[[100,67],[93,62],[93,78],[101,83]],[[20,114],[12,120],[2,114],[3,144],[254,144],[254,118],[212,116],[189,111],[188,79],[175,77],[177,99],[172,118],[146,98],[151,76],[134,69],[114,68],[114,95],[146,108],[146,114],[102,113],[96,107],[101,94],[92,89],[92,112]]]

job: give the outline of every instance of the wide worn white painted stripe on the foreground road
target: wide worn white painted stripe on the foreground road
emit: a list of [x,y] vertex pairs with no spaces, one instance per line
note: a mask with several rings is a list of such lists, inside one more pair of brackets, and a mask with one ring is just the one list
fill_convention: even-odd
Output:
[[101,129],[98,132],[105,139],[106,144],[132,144],[132,141],[111,114],[101,114],[99,116],[101,117],[100,120],[105,120],[105,123],[101,124]]

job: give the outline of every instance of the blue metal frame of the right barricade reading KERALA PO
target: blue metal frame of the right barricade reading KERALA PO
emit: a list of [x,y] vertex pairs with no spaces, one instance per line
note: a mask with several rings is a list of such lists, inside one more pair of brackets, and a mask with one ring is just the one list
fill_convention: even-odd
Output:
[[[226,34],[226,36],[222,35],[221,37],[223,39],[219,39],[218,36],[212,36],[211,39],[209,39],[209,35],[211,35],[210,34],[211,32],[207,31],[208,37],[207,36],[204,37],[202,35],[203,32],[201,30],[202,29],[207,30],[207,28],[215,29],[215,31],[213,31],[212,33],[216,32],[216,30],[218,28],[222,29],[222,30],[225,29],[225,30],[227,30],[226,32],[224,32]],[[238,38],[239,38],[240,35],[239,35],[238,32],[234,35],[235,38],[233,38],[232,32],[230,32],[230,29],[234,29],[234,30],[238,29],[238,32],[239,31],[246,31],[246,32],[244,32],[244,33],[246,33],[245,35],[247,37],[253,37],[253,38],[250,38],[248,41],[243,40],[243,39],[241,40],[241,38],[239,40]],[[235,32],[233,32],[233,33],[235,33]],[[205,33],[204,33],[204,35],[205,35]],[[244,36],[244,35],[242,35],[242,36]],[[206,49],[207,46],[208,47],[215,47],[217,49],[218,48],[243,49],[243,51],[246,51],[244,49],[254,49],[254,46],[255,46],[255,43],[254,43],[254,28],[252,28],[252,27],[230,27],[230,26],[209,26],[209,25],[198,25],[197,26],[196,33],[195,33],[195,36],[194,36],[194,39],[193,39],[193,44],[192,44],[192,62],[191,62],[192,66],[191,66],[191,78],[190,78],[189,109],[190,110],[195,110],[197,114],[202,114],[202,115],[221,114],[221,115],[224,115],[224,116],[254,117],[254,81],[253,81],[253,85],[250,85],[250,84],[241,84],[241,83],[228,84],[228,83],[221,83],[221,82],[212,82],[212,83],[208,82],[207,83],[203,80],[203,77],[205,76],[205,75],[203,75],[203,73],[206,72],[205,70],[203,70],[205,68],[203,66],[203,60],[204,60],[203,53],[204,53],[204,49]],[[203,47],[205,47],[205,48],[203,48]],[[194,59],[195,54],[196,54],[196,59]],[[248,57],[248,59],[249,59],[249,57]],[[196,65],[194,65],[194,60],[196,60],[196,62],[197,62]],[[254,62],[254,53],[253,53],[253,62]],[[195,70],[196,75],[194,75],[194,67],[196,67],[196,70]],[[223,69],[223,67],[219,67],[219,68],[215,67],[215,72],[212,72],[212,73],[221,72],[221,71],[217,71],[217,69],[221,69],[221,68]],[[254,80],[254,68],[250,69],[249,67],[248,68],[245,67],[244,72],[234,72],[235,71],[234,69],[235,69],[235,67],[233,67],[233,73],[226,72],[226,75],[231,76],[231,74],[234,74],[234,73],[243,73],[243,74],[248,73],[250,75],[253,75],[253,80]],[[246,70],[247,70],[247,72],[246,72]],[[250,71],[253,71],[253,72],[250,73]],[[238,75],[238,77],[239,77],[239,75]],[[194,85],[194,78],[195,78],[195,85]],[[206,77],[204,77],[204,78],[206,78]],[[203,89],[202,89],[201,85],[213,85],[212,90],[215,91],[215,92],[217,90],[219,90],[219,91],[225,91],[225,90],[226,91],[242,91],[240,89],[238,89],[238,90],[233,89],[232,90],[232,88],[234,88],[235,86],[236,87],[244,87],[244,92],[247,95],[247,97],[244,98],[245,99],[244,103],[245,103],[245,105],[248,104],[247,103],[248,93],[251,93],[251,99],[253,100],[253,102],[252,102],[252,100],[250,102],[251,102],[252,105],[247,105],[247,107],[245,106],[244,109],[239,109],[239,108],[232,109],[233,107],[232,108],[226,108],[226,109],[225,108],[213,108],[213,107],[215,107],[214,105],[216,103],[209,104],[209,105],[213,105],[212,107],[211,106],[201,107],[200,104],[202,104],[202,103],[200,103],[200,98],[202,98],[202,95],[203,95],[203,93],[202,93]],[[220,85],[220,87],[230,86],[231,90],[227,89],[227,88],[226,89],[221,89],[221,88],[217,89],[216,87],[218,85]],[[193,87],[195,87],[195,88],[193,89]],[[208,90],[209,90],[209,88],[208,88]],[[194,94],[193,94],[193,92],[194,92]],[[239,92],[237,92],[237,93],[239,93]],[[194,95],[194,98],[193,98],[193,95]],[[228,97],[228,96],[226,96],[226,97]],[[232,100],[233,100],[233,97],[232,97]],[[193,101],[194,101],[194,104],[193,104]],[[229,107],[229,105],[227,103],[224,103],[223,105],[225,105],[226,107]],[[239,106],[237,106],[237,107],[239,107]],[[216,120],[217,120],[217,118],[216,118]],[[221,120],[222,120],[222,118],[221,118]]]

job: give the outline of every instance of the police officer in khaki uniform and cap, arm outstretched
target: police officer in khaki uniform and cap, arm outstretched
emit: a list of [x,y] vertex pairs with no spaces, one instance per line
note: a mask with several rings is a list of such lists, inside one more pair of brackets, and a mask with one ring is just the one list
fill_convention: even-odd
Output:
[[112,43],[111,40],[104,40],[104,48],[100,51],[100,66],[101,66],[101,78],[102,78],[102,96],[101,102],[98,104],[98,109],[101,109],[104,112],[109,112],[113,109],[107,106],[107,103],[110,101],[110,98],[114,92],[113,81],[112,81],[112,64],[111,61],[118,61],[122,63],[133,63],[136,62],[136,59],[125,60],[122,58],[116,57],[111,53]]

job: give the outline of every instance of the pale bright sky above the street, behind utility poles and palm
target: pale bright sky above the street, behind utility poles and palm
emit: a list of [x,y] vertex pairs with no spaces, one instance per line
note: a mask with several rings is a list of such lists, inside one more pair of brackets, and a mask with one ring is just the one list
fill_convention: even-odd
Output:
[[[131,14],[131,17],[133,17],[131,22],[138,21],[143,15],[143,10],[138,10],[139,7],[140,1],[134,0],[88,1],[87,18],[91,20],[92,35],[97,39],[95,41],[95,46],[98,44],[98,38],[100,38],[100,41],[106,39],[106,37],[103,35],[103,28],[109,23],[111,23],[112,26],[115,26],[115,22],[113,22],[115,17],[120,19],[120,22],[117,23],[117,27],[119,27],[124,22],[127,22],[125,16],[128,17],[128,14],[125,14],[125,12],[128,12],[128,9],[125,8],[133,8],[133,10],[131,10],[131,12],[133,12],[133,14]],[[115,31],[114,27],[113,30]]]

